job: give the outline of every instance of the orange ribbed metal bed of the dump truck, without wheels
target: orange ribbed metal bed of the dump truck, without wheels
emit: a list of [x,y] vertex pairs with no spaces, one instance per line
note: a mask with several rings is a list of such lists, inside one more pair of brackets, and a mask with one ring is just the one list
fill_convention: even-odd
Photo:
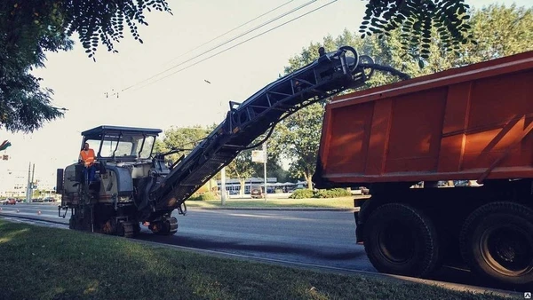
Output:
[[326,106],[314,182],[533,178],[533,51]]

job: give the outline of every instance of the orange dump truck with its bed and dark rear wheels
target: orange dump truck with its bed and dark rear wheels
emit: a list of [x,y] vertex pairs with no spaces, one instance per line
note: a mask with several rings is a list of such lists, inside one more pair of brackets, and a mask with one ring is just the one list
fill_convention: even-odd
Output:
[[379,272],[531,285],[532,129],[533,51],[357,91],[326,107],[314,182],[370,187],[356,240]]

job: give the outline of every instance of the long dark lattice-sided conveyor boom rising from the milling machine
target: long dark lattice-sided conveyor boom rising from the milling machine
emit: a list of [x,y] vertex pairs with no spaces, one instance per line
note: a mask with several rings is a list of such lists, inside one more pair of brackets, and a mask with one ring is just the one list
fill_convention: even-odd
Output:
[[357,52],[341,47],[270,83],[243,103],[230,102],[226,120],[152,190],[155,211],[177,209],[252,141],[286,116],[340,91],[361,86],[367,79]]

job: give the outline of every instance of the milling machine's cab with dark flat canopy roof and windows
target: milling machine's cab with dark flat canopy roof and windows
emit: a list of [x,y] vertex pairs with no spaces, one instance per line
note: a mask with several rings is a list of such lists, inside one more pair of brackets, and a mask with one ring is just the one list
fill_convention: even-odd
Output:
[[159,129],[102,125],[82,132],[99,160],[136,161],[151,156]]

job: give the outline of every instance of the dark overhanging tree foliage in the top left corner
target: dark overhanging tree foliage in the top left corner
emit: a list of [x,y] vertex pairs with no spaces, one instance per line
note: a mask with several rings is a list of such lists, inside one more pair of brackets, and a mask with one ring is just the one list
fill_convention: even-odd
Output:
[[103,43],[123,38],[123,23],[142,43],[136,22],[147,25],[144,11],[170,12],[164,0],[3,0],[0,2],[0,129],[33,132],[63,116],[53,107],[52,89],[30,72],[44,67],[45,51],[68,51],[79,36],[88,56]]

